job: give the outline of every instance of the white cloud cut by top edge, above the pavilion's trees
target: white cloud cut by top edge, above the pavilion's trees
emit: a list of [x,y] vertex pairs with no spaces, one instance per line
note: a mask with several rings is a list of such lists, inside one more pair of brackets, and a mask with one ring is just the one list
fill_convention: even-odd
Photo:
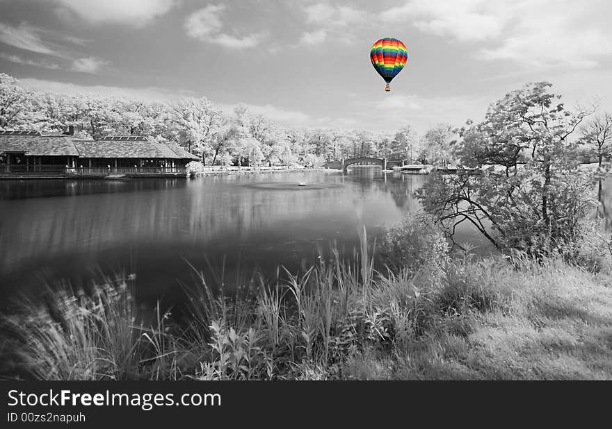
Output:
[[166,14],[177,0],[55,0],[61,8],[91,24],[145,26]]

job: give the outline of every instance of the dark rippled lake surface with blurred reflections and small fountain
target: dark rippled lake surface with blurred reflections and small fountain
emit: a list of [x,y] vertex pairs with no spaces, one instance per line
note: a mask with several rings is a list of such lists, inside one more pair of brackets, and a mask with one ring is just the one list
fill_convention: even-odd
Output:
[[[335,241],[346,255],[417,210],[427,176],[376,168],[142,180],[0,180],[0,298],[92,273],[136,273],[141,300],[193,283],[187,262],[248,282],[308,267]],[[306,183],[298,187],[298,183]],[[465,230],[458,241],[471,239]],[[225,260],[225,262],[224,262]]]

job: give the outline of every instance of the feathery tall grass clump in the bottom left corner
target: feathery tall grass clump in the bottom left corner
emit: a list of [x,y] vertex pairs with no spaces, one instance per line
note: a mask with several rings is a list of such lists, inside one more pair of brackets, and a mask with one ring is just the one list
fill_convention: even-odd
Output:
[[129,287],[105,279],[91,293],[65,287],[50,305],[26,301],[4,318],[19,366],[39,380],[99,380],[133,376],[139,333]]

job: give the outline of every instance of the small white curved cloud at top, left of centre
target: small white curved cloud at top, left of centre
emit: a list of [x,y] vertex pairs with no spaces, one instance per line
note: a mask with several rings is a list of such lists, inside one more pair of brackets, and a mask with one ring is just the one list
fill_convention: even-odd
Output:
[[244,36],[223,33],[221,15],[225,5],[209,5],[196,10],[185,21],[187,35],[202,42],[219,44],[233,49],[245,49],[257,46],[264,39],[264,33],[252,33]]

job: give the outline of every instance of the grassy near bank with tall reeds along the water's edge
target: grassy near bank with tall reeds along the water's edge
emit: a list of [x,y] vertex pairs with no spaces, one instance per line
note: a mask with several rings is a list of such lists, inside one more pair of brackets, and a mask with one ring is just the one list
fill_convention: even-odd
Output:
[[[131,286],[64,289],[4,320],[3,373],[40,379],[612,379],[612,276],[561,260],[353,262],[139,322]],[[434,258],[435,259],[435,258]],[[201,276],[203,278],[203,276]]]

